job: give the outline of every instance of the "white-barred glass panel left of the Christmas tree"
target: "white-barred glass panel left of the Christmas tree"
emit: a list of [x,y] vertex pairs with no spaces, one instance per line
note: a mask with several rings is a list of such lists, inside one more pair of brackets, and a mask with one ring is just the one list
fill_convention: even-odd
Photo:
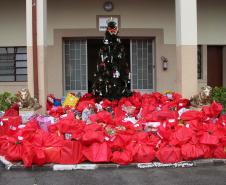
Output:
[[65,40],[65,90],[87,91],[87,41]]

